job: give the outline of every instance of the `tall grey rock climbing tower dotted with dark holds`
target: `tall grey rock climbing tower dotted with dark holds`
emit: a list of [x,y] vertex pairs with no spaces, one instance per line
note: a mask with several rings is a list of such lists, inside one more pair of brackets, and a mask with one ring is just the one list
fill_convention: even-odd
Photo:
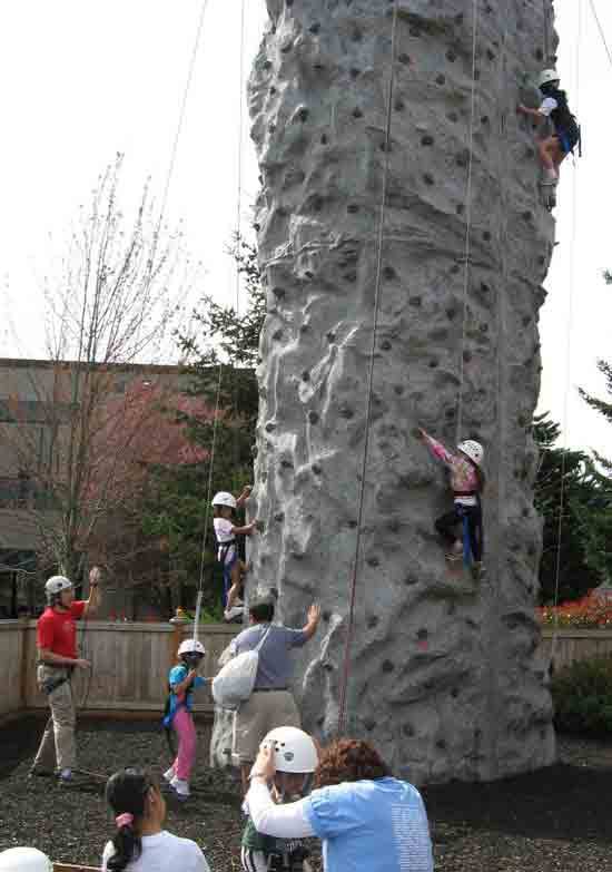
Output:
[[[304,724],[338,723],[388,159],[346,729],[416,783],[550,764],[530,422],[554,224],[515,106],[553,60],[552,3],[398,0],[394,59],[389,0],[267,7],[249,84],[267,293],[253,578],[288,625],[322,605],[296,658]],[[445,562],[447,484],[414,438],[454,444],[460,396],[461,435],[486,449],[480,584]]]

